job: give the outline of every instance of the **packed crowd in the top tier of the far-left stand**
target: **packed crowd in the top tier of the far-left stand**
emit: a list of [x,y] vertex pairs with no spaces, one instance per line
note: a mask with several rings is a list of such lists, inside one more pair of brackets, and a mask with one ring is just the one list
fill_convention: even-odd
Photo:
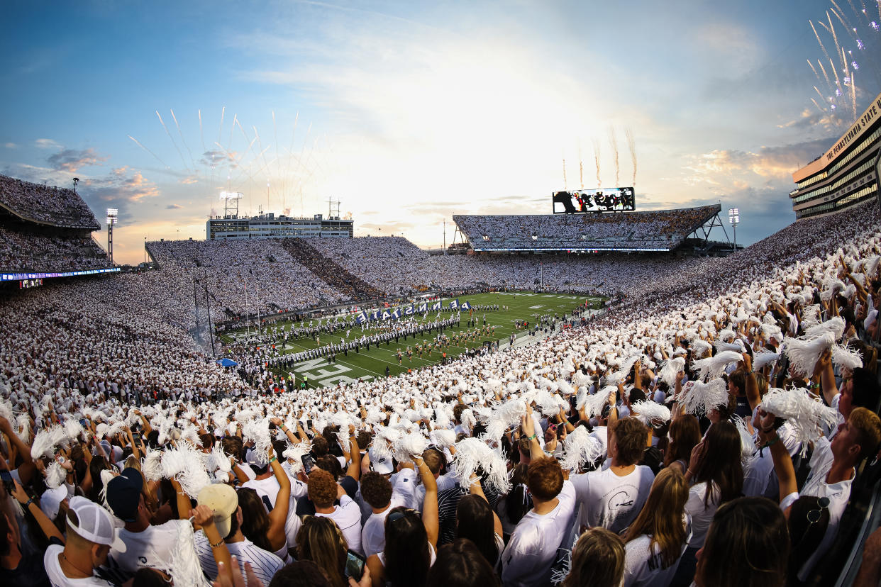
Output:
[[49,187],[0,175],[0,204],[26,220],[97,231],[92,210],[72,189]]

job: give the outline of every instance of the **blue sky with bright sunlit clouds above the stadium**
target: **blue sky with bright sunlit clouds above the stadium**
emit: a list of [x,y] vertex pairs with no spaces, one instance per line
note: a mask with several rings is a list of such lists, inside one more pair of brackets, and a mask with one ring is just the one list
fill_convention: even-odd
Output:
[[453,214],[633,186],[638,209],[737,207],[749,244],[795,220],[791,173],[853,120],[849,85],[824,99],[845,75],[825,26],[857,112],[881,92],[877,0],[839,5],[854,34],[813,0],[10,3],[0,172],[78,177],[102,226],[120,210],[122,263],[204,238],[222,191],[243,214],[338,200],[356,236],[428,247]]

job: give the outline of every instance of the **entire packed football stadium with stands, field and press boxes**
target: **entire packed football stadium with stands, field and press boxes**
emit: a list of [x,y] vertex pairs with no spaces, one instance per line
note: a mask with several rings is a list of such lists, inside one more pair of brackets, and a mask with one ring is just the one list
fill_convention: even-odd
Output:
[[0,175],[0,577],[878,584],[878,113],[749,245],[633,183],[431,248],[229,180],[128,265],[97,187]]

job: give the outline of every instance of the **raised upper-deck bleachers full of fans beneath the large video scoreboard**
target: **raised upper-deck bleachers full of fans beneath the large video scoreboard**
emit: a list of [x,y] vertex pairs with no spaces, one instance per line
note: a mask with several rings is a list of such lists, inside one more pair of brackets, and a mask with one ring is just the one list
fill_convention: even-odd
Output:
[[616,214],[454,215],[475,251],[672,251],[722,207]]

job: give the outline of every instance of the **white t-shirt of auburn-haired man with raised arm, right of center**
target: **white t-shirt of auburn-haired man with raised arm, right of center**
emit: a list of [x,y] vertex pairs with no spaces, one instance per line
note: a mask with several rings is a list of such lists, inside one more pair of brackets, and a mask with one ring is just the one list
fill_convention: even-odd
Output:
[[557,548],[574,524],[575,488],[563,481],[557,507],[544,515],[530,510],[517,524],[501,554],[505,587],[532,587],[551,580],[551,565]]

